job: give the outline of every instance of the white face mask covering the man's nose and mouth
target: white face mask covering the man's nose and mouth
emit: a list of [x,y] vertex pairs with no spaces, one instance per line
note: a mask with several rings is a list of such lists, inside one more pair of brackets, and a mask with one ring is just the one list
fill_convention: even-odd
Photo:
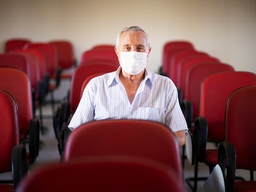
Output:
[[119,54],[122,69],[130,75],[139,74],[147,65],[147,52],[121,51]]

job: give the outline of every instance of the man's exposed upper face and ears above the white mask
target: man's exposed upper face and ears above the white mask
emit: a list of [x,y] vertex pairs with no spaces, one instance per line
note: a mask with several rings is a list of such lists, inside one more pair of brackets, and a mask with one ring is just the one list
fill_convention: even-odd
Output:
[[137,51],[137,52],[148,52],[147,36],[143,31],[124,31],[119,40],[119,50],[115,48],[117,57],[119,58],[120,51]]

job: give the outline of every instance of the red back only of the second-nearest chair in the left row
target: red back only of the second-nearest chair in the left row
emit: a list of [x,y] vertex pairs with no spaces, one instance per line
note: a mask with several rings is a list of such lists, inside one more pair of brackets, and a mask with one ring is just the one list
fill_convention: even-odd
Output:
[[0,68],[0,89],[14,96],[19,108],[20,139],[27,138],[32,113],[32,94],[30,80],[20,70]]

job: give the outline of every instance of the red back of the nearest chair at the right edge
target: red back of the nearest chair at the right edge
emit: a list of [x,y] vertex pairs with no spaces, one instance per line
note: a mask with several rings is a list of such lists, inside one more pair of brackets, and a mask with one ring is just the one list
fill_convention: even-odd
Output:
[[226,103],[225,141],[236,149],[236,169],[256,170],[255,99],[256,85],[244,86],[233,91]]

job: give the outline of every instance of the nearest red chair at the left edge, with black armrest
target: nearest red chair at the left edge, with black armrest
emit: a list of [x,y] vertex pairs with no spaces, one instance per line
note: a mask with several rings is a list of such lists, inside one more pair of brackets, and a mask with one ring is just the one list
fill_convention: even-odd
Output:
[[19,117],[15,99],[0,90],[0,174],[12,172],[11,180],[0,181],[0,191],[14,191],[20,179],[27,174],[27,152],[20,144]]

